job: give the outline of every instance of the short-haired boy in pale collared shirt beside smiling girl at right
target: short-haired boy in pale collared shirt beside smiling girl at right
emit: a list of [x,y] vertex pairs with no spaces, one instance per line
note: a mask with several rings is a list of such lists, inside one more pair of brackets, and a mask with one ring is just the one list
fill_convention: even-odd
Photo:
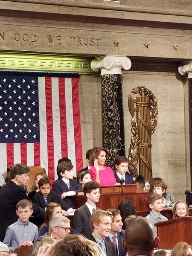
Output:
[[148,195],[147,197],[147,204],[151,209],[151,212],[145,218],[147,218],[149,221],[151,221],[151,224],[153,224],[155,236],[157,236],[157,227],[155,227],[154,224],[159,221],[168,220],[168,218],[160,214],[163,209],[162,202],[163,197],[161,195],[158,195],[157,193],[153,193],[151,195]]

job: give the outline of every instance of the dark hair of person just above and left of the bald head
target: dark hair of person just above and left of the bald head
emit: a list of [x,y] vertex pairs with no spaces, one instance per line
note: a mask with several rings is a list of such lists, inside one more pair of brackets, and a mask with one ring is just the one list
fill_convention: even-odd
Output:
[[136,212],[135,212],[135,206],[134,203],[129,200],[129,199],[123,199],[117,209],[121,212],[121,218],[122,218],[122,229],[125,229],[126,224],[125,224],[125,219],[128,218],[129,216],[136,217]]

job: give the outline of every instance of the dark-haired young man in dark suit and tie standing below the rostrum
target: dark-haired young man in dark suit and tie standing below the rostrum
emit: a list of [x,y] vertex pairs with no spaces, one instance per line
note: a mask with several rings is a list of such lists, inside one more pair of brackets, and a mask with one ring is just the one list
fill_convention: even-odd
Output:
[[73,227],[79,233],[83,234],[87,238],[91,236],[91,229],[89,224],[89,218],[96,207],[96,203],[99,202],[100,197],[100,184],[96,181],[89,181],[84,184],[83,192],[87,197],[86,203],[76,209],[73,218]]

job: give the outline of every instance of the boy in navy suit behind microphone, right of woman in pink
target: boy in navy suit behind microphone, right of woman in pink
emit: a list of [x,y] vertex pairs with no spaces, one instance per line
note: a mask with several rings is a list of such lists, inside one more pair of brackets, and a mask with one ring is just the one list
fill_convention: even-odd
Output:
[[115,159],[115,178],[116,182],[123,183],[124,185],[134,184],[134,180],[130,174],[128,174],[128,158],[124,156],[116,157]]

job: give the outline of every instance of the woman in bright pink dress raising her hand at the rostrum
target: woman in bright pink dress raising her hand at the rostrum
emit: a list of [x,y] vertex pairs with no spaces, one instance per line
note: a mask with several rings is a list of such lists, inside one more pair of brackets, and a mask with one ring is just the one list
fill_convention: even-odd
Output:
[[92,166],[87,172],[92,180],[97,181],[101,186],[120,185],[116,182],[114,172],[109,166],[105,166],[108,151],[105,148],[95,147],[90,151],[89,160]]

